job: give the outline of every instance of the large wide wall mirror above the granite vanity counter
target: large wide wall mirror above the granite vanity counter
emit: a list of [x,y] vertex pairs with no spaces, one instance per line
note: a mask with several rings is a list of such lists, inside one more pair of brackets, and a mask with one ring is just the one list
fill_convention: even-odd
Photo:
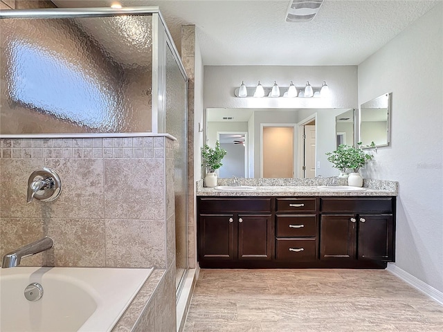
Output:
[[228,151],[219,177],[336,176],[325,155],[354,142],[354,109],[206,109],[205,139]]

